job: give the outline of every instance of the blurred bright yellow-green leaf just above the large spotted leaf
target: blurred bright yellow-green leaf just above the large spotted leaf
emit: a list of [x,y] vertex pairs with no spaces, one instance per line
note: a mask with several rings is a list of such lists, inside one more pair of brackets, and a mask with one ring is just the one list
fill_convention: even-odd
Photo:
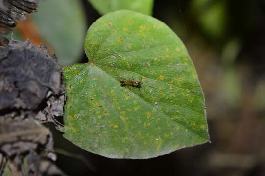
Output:
[[102,15],[115,10],[128,9],[152,15],[153,0],[88,0]]

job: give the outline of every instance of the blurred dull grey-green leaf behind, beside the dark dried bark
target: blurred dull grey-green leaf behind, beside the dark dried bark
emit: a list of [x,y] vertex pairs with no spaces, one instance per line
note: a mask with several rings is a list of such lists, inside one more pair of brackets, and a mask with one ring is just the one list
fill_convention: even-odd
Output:
[[79,0],[47,0],[32,14],[32,20],[52,46],[60,66],[82,57],[86,20]]

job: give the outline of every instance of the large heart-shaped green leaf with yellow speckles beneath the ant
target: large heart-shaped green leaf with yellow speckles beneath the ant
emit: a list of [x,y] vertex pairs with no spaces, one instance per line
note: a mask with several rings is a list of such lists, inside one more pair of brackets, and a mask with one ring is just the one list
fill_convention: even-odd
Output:
[[[110,158],[151,158],[209,140],[193,63],[163,22],[121,10],[88,30],[89,62],[64,69],[64,137]],[[141,88],[120,81],[141,81]]]

